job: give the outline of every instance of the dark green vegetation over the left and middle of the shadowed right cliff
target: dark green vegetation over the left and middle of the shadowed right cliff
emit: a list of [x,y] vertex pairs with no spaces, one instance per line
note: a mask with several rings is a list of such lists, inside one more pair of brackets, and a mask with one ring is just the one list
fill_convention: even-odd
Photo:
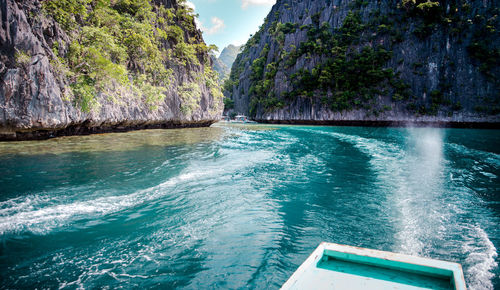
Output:
[[[327,22],[320,23],[319,14],[312,16],[312,22],[300,28],[293,23],[275,21],[271,24],[269,31],[279,44],[281,53],[271,56],[277,59],[276,62],[268,63],[269,46],[266,45],[260,57],[252,62],[249,90],[251,115],[256,113],[259,105],[270,112],[299,96],[311,99],[320,96],[320,101],[332,111],[370,108],[375,96],[382,93],[392,92],[396,98],[408,98],[407,85],[392,69],[384,68],[391,59],[391,51],[362,43],[366,24],[362,23],[358,13],[350,12],[342,26],[335,30]],[[307,41],[299,47],[289,47],[287,51],[283,48],[284,34],[294,33],[296,29],[306,31]],[[289,78],[290,89],[282,98],[276,96],[273,88],[278,67],[291,68],[299,58],[307,59],[313,55],[321,56],[322,61],[311,70],[301,68],[293,73]]]

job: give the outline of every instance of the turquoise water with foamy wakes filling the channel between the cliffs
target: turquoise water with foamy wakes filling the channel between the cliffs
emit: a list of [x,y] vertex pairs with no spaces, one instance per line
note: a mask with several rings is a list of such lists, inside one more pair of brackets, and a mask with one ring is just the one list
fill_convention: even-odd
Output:
[[224,126],[0,143],[0,288],[278,288],[321,241],[500,287],[500,131]]

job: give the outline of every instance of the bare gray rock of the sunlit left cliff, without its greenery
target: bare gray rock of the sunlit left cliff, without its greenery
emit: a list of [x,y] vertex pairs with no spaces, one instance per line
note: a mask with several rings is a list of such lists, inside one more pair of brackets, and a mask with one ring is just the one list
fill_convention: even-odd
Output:
[[[177,7],[174,0],[156,2]],[[82,112],[65,98],[69,81],[50,62],[54,58],[52,44],[68,43],[68,35],[52,18],[41,13],[39,0],[0,0],[0,8],[0,140],[207,126],[221,117],[222,100],[215,99],[205,82],[194,77],[204,72],[203,64],[185,68],[166,63],[174,71],[173,81],[165,88],[165,100],[155,110],[141,96],[121,91],[118,98],[99,94],[100,108]],[[36,16],[29,21],[28,13]],[[203,41],[199,30],[197,35],[190,36]],[[31,56],[31,60],[17,64],[15,53],[19,50]],[[201,89],[199,106],[190,115],[180,110],[183,101],[178,87],[185,82],[197,82]]]

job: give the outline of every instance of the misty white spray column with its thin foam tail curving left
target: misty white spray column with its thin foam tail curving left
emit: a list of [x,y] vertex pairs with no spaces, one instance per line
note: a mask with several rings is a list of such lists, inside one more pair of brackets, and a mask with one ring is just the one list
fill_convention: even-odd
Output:
[[443,163],[441,136],[433,131],[410,131],[410,148],[406,150],[379,140],[337,136],[372,157],[370,163],[399,225],[397,251],[423,255],[429,239],[436,238],[437,229],[448,219],[446,212],[439,214],[443,212],[441,202],[436,201],[436,195],[443,191],[439,180]]

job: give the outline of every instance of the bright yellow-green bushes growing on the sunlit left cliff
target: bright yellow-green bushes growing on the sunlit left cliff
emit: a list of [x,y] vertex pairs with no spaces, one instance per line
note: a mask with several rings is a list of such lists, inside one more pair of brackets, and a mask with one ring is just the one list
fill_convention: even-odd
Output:
[[[52,44],[52,67],[70,83],[66,98],[89,112],[98,109],[98,94],[118,101],[121,93],[128,92],[155,110],[171,86],[174,70],[184,67],[189,72],[200,65],[205,73],[188,79],[205,81],[211,94],[221,98],[208,60],[211,48],[196,29],[192,9],[184,0],[178,2],[176,9],[149,0],[43,2],[44,11],[71,39]],[[179,92],[183,99],[189,95],[182,110],[186,114],[199,100],[195,86],[184,84]]]

